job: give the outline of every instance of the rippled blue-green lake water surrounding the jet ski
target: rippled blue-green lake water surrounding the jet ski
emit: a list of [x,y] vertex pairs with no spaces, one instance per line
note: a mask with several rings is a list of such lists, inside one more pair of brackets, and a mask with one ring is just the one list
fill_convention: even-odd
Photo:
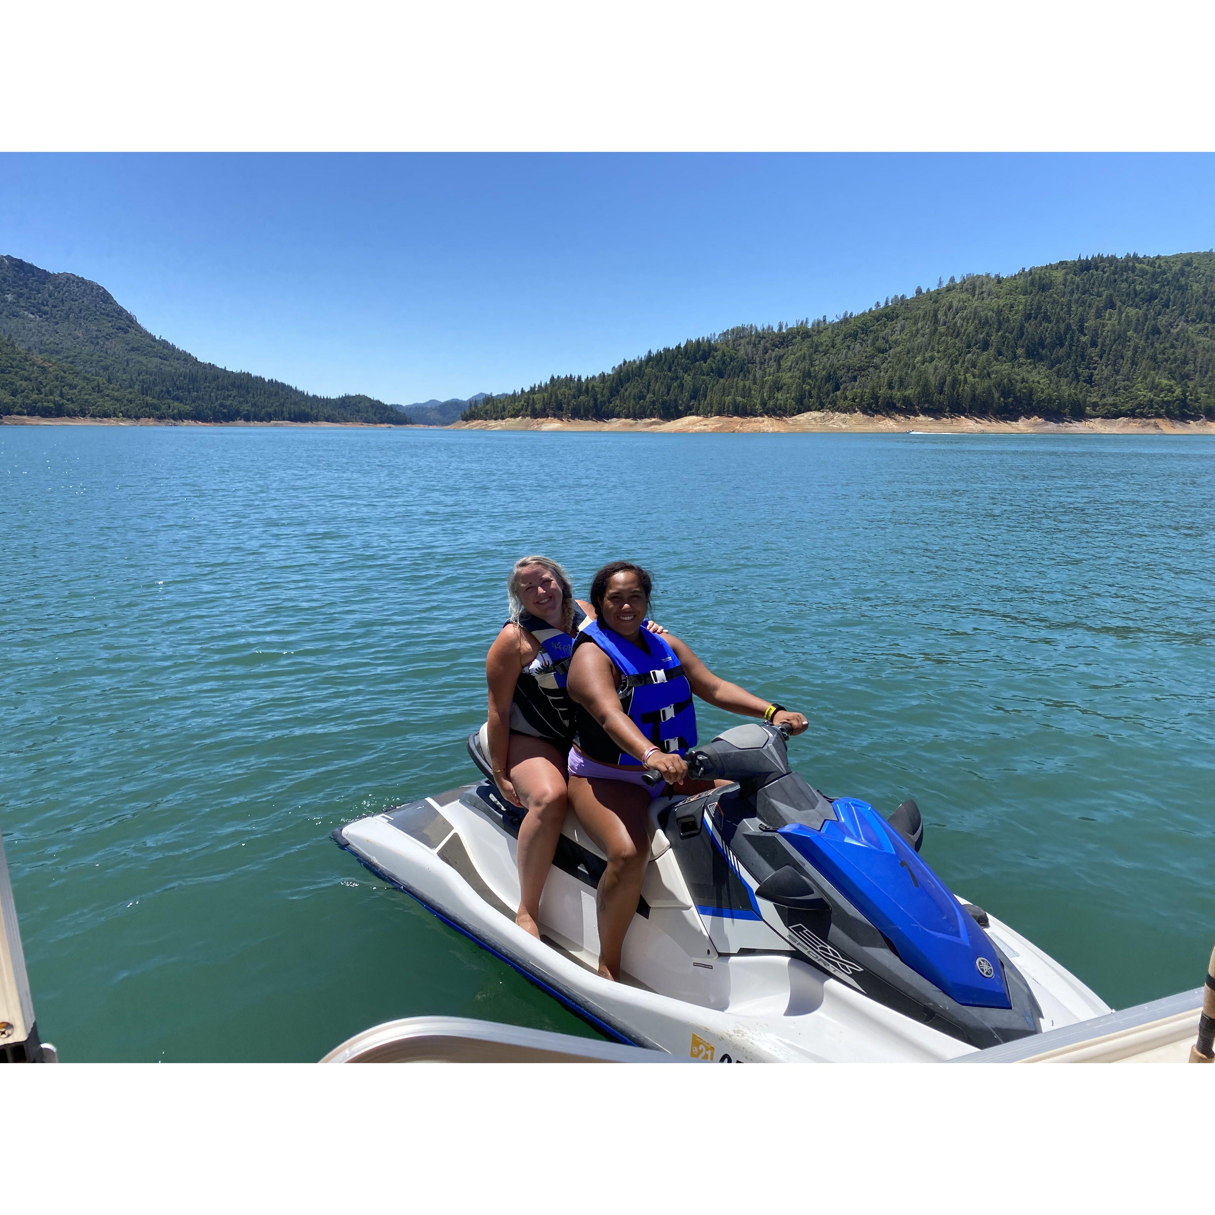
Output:
[[[340,852],[474,779],[527,550],[810,718],[795,765],[1114,1006],[1215,942],[1215,440],[0,429],[0,827],[66,1059],[590,1034]],[[702,735],[725,722],[706,711]]]

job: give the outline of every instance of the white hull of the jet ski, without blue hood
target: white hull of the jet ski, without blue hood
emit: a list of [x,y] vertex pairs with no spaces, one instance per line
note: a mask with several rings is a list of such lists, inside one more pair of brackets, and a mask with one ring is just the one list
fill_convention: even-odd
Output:
[[[536,940],[514,922],[515,838],[475,787],[360,819],[334,836],[608,1036],[713,1062],[938,1062],[974,1052],[802,960],[762,921],[702,916],[656,825],[643,908],[625,940],[626,981],[600,978],[594,885],[575,864],[598,849],[570,814],[541,902],[544,940]],[[1016,959],[1044,1030],[1109,1011],[994,916],[988,933]]]

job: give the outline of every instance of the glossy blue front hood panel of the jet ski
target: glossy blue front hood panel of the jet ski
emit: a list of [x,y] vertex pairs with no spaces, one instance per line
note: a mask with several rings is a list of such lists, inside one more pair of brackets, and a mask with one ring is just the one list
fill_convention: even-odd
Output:
[[836,820],[780,829],[898,950],[959,1004],[1011,1008],[991,943],[940,878],[868,803],[840,797]]

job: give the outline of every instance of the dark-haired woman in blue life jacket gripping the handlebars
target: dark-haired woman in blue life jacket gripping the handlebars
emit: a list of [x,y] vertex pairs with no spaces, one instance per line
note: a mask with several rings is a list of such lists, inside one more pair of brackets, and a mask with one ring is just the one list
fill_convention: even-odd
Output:
[[570,748],[570,806],[608,857],[595,902],[599,973],[620,978],[625,934],[633,922],[650,858],[650,801],[665,792],[643,779],[657,772],[669,790],[700,792],[683,756],[696,745],[693,694],[730,713],[787,724],[801,734],[801,713],[761,700],[713,674],[679,638],[648,634],[652,578],[631,561],[605,565],[590,583],[597,620],[573,643],[567,691],[575,706]]

